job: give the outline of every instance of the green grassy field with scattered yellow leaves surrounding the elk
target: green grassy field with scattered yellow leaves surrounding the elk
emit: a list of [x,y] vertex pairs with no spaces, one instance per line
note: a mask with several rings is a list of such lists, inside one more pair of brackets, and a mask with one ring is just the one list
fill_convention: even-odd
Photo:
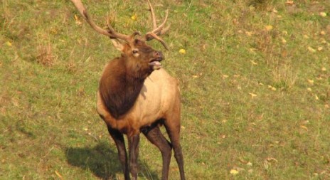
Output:
[[[102,26],[109,12],[119,32],[151,27],[145,1],[83,2]],[[163,65],[181,83],[187,179],[330,179],[329,1],[151,2],[170,10]],[[67,0],[0,12],[0,179],[123,179],[95,111],[119,52]],[[142,137],[139,179],[160,176]]]

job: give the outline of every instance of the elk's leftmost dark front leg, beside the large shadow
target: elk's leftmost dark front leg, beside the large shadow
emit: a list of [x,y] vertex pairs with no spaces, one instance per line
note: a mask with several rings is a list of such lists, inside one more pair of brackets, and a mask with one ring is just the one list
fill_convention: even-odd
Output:
[[110,126],[107,126],[107,129],[117,146],[119,162],[122,164],[122,171],[124,171],[125,180],[130,180],[124,136],[117,129],[112,129]]

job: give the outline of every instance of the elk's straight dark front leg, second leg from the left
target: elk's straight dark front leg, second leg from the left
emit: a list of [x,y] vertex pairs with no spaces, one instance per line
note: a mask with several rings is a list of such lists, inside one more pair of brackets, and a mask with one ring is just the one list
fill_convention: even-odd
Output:
[[140,135],[136,134],[127,139],[129,143],[129,168],[132,174],[132,179],[137,180],[137,157],[139,156]]

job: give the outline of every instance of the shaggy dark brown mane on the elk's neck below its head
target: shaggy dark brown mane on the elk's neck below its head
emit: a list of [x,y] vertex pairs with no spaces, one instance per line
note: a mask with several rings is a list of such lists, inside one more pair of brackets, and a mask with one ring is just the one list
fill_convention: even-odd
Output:
[[149,67],[130,65],[124,57],[112,60],[100,80],[100,95],[107,110],[118,119],[128,112],[139,96]]

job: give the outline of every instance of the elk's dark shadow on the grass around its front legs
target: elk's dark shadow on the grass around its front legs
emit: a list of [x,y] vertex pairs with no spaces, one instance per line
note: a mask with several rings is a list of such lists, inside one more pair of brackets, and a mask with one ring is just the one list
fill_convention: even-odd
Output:
[[[116,174],[123,174],[117,149],[110,144],[100,142],[95,147],[69,147],[65,149],[68,163],[81,169],[89,169],[100,179],[116,179]],[[142,175],[143,174],[143,175]],[[159,179],[146,163],[139,161],[139,176],[147,179]]]

